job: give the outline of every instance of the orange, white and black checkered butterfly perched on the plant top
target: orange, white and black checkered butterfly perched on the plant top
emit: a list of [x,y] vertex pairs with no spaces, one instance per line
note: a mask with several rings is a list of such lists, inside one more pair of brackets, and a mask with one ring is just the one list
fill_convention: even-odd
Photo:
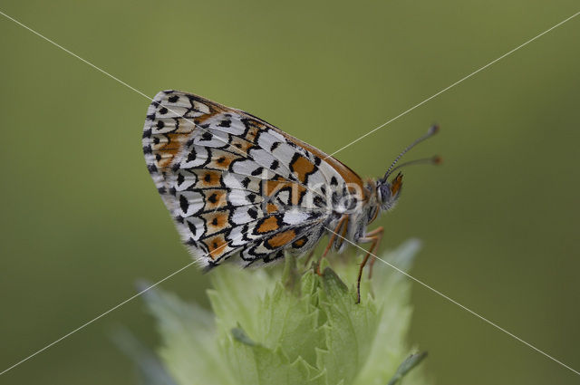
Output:
[[[324,255],[343,250],[345,240],[370,243],[359,271],[360,301],[362,268],[383,234],[382,227],[367,232],[367,226],[401,194],[401,173],[389,178],[406,164],[394,166],[437,130],[431,127],[404,149],[384,177],[363,180],[248,112],[171,90],[150,104],[142,145],[150,175],[198,265],[211,269],[230,258],[266,265],[286,254],[307,254],[324,235]],[[439,160],[407,164],[426,161]]]

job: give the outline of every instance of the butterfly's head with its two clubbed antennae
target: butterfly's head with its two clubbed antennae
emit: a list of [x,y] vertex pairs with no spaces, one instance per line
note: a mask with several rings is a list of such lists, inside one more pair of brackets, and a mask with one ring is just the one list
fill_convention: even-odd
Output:
[[437,125],[431,126],[425,135],[421,136],[418,140],[413,141],[409,146],[407,146],[406,149],[403,149],[401,151],[401,154],[399,154],[399,156],[393,160],[393,162],[391,163],[391,167],[389,167],[389,169],[387,169],[387,172],[384,174],[384,177],[377,180],[377,197],[379,199],[379,203],[381,204],[382,210],[387,211],[387,210],[390,210],[392,207],[395,207],[397,200],[399,199],[399,196],[401,195],[401,188],[402,188],[402,174],[401,174],[401,172],[399,172],[396,175],[396,177],[389,180],[389,178],[391,177],[391,175],[395,171],[397,171],[400,168],[406,167],[406,166],[411,166],[413,164],[428,163],[428,164],[437,165],[437,164],[441,163],[440,157],[435,156],[432,158],[411,160],[409,162],[405,162],[405,163],[395,167],[395,165],[397,164],[399,159],[401,159],[401,157],[403,155],[405,155],[405,153],[407,151],[409,151],[410,149],[415,147],[421,141],[426,140],[426,139],[430,138],[431,136],[435,135],[438,131],[439,131],[439,126],[437,126]]

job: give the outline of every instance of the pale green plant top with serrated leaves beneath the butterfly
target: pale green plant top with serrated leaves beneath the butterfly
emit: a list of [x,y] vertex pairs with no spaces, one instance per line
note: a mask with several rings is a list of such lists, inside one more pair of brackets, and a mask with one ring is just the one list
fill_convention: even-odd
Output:
[[[418,248],[407,242],[382,259],[404,272]],[[164,368],[179,385],[425,384],[422,367],[410,371],[418,358],[405,361],[411,282],[377,261],[356,303],[359,265],[343,259],[322,276],[293,257],[284,273],[220,266],[208,291],[215,317],[151,290]]]

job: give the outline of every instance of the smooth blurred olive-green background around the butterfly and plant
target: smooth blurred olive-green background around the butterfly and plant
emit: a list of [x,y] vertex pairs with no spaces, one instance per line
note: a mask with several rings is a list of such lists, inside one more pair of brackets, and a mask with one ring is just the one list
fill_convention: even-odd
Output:
[[[0,10],[122,81],[251,111],[333,152],[541,33],[577,0],[15,1]],[[189,263],[141,155],[149,102],[0,16],[0,371]],[[411,158],[383,248],[424,241],[412,274],[580,369],[580,16],[344,149],[382,175]],[[162,284],[202,303],[196,268]],[[414,285],[411,342],[439,384],[579,377]],[[139,299],[0,377],[131,384],[121,325],[153,345]]]

